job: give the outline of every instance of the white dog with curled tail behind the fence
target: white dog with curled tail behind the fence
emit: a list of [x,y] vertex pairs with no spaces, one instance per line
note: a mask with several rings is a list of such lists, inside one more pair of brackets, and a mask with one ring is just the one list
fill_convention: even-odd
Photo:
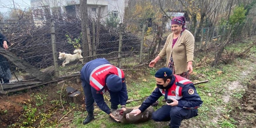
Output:
[[[59,59],[60,60],[65,60],[63,63],[62,63],[62,66],[65,67],[65,64],[68,64],[72,61],[75,61],[76,59],[79,59],[79,61],[81,61],[83,63],[83,59],[80,59],[80,58],[83,58],[83,56],[81,55],[82,53],[82,50],[81,49],[76,49],[74,50],[74,55],[72,54],[66,54],[65,52],[59,52]],[[78,62],[77,62],[78,63]],[[76,64],[77,65],[77,64]]]

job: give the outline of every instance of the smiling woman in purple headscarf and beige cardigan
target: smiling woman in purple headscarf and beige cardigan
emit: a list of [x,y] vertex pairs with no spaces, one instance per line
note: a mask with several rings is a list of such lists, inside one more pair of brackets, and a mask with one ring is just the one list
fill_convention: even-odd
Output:
[[166,56],[166,67],[173,70],[173,74],[189,79],[193,71],[195,38],[186,30],[184,16],[175,17],[171,21],[172,33],[168,35],[163,49],[158,56],[150,62],[149,67]]

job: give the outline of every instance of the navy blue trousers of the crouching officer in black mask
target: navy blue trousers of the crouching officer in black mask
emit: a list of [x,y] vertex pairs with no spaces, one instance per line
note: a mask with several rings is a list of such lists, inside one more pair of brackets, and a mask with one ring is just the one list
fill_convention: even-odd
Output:
[[181,121],[197,116],[197,109],[184,109],[178,106],[164,105],[152,113],[154,121],[170,121],[172,128],[179,128]]

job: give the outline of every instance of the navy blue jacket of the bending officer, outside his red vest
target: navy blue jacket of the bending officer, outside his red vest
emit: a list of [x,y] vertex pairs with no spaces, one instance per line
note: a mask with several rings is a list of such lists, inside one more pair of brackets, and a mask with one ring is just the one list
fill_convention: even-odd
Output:
[[[91,72],[96,67],[98,67],[100,65],[104,65],[104,64],[110,64],[110,63],[109,63],[109,61],[107,61],[104,58],[98,58],[98,59],[95,59],[93,61],[89,61],[88,63],[86,63],[86,65],[84,65],[83,68],[81,69],[81,80],[86,81],[86,83],[90,83],[90,74],[91,74]],[[91,87],[91,91],[92,91],[93,99],[97,103],[97,106],[99,106],[99,108],[102,111],[104,111],[105,113],[110,114],[111,113],[110,108],[104,102],[103,95],[100,94],[100,93],[96,93],[97,91],[93,87]],[[112,92],[109,91],[109,93],[112,93]],[[125,82],[122,83],[122,89],[118,93],[119,93],[120,104],[121,105],[126,105],[128,95],[127,95],[127,88],[126,88]],[[111,98],[113,98],[113,97],[111,97]]]

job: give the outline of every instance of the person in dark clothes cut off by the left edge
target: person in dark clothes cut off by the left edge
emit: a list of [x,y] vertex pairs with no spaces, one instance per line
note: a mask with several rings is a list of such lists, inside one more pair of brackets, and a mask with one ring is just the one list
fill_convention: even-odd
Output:
[[[8,40],[0,32],[0,47],[3,49],[8,49]],[[1,83],[9,83],[11,79],[10,65],[5,57],[0,55],[0,81]],[[3,80],[3,81],[2,81]]]

